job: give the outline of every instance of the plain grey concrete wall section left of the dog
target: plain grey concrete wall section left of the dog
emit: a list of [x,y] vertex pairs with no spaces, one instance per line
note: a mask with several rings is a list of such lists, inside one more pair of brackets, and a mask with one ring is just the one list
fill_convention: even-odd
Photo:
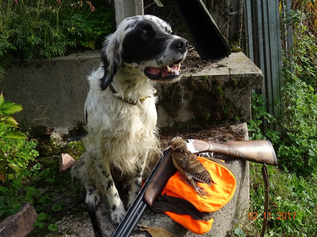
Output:
[[65,57],[15,61],[0,83],[4,99],[23,105],[14,115],[20,124],[74,127],[84,121],[89,90],[86,77],[100,65],[100,52],[73,52]]

